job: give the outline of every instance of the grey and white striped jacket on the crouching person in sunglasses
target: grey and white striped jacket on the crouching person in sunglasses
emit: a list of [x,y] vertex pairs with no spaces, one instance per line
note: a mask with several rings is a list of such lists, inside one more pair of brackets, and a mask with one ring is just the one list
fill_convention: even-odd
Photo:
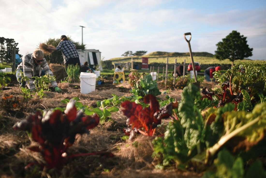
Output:
[[[51,72],[45,59],[40,65],[38,65],[35,63],[34,59],[32,59],[32,56],[32,53],[26,54],[22,59],[22,63],[20,63],[17,67],[17,70],[23,69],[24,76],[28,77],[29,80],[26,84],[30,90],[35,89],[35,85],[31,78],[33,76],[40,76],[42,70],[44,70],[45,74],[53,76],[53,73]],[[56,81],[51,81],[51,84],[53,88],[57,87]]]

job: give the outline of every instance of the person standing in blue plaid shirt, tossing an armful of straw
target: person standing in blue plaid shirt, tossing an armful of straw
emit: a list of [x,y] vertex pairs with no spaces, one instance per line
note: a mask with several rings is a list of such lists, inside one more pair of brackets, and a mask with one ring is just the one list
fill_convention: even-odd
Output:
[[62,52],[65,68],[67,68],[68,65],[76,65],[80,67],[80,59],[78,57],[78,52],[74,46],[74,43],[69,41],[66,37],[66,35],[61,36],[61,41],[57,45],[57,47],[48,47],[49,50],[58,50]]

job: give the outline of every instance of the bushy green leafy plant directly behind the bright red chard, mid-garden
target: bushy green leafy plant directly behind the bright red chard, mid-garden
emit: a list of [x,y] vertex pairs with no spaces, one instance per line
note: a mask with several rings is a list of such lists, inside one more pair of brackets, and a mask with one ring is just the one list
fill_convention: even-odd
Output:
[[140,79],[134,88],[130,91],[132,94],[137,96],[145,96],[147,94],[152,94],[153,96],[160,95],[161,92],[157,87],[156,80],[152,80],[152,76],[146,75],[143,79]]

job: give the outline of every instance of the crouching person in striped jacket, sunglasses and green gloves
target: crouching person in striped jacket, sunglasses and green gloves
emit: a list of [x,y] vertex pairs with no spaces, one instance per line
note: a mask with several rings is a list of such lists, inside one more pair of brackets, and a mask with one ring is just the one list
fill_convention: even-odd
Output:
[[[27,82],[21,82],[20,74],[23,72],[24,76],[26,76],[29,80]],[[35,85],[33,83],[32,77],[34,76],[43,76],[45,74],[53,76],[46,60],[43,58],[43,51],[35,50],[33,53],[26,54],[22,63],[20,63],[16,70],[16,78],[20,84],[20,86],[25,86],[30,88],[31,91],[36,90]],[[51,81],[52,87],[56,92],[61,92],[62,90],[57,86],[56,81]]]

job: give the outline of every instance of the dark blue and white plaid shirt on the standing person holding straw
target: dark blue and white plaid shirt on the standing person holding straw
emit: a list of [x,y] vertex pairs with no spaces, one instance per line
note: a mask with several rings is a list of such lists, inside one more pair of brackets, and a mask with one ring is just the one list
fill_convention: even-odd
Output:
[[64,63],[66,63],[70,58],[78,58],[78,52],[74,43],[71,41],[61,41],[56,47],[56,50],[62,51]]

